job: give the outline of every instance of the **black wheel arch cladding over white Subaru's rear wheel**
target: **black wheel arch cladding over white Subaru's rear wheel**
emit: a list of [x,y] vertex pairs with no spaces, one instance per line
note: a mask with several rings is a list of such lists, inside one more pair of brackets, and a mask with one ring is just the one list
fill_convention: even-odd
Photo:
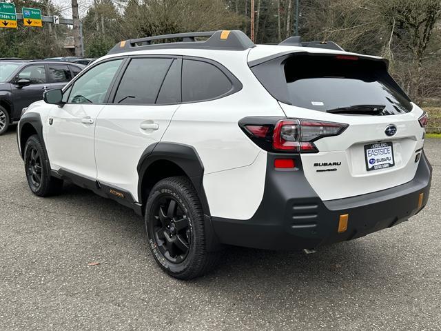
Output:
[[185,175],[192,181],[201,200],[203,212],[209,217],[209,206],[203,188],[204,167],[192,146],[167,142],[152,144],[143,152],[137,170],[138,197],[143,205],[150,190],[158,181],[167,177]]

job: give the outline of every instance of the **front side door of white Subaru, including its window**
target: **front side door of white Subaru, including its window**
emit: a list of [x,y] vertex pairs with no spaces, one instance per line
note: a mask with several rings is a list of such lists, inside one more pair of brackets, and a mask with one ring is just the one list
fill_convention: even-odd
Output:
[[54,170],[67,170],[96,180],[94,130],[96,118],[123,59],[93,66],[63,91],[63,106],[55,106],[45,126],[48,156]]

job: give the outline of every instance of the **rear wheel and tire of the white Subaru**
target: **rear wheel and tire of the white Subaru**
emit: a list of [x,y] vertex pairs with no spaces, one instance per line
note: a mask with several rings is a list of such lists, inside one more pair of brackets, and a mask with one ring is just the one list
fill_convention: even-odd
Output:
[[176,279],[200,277],[218,261],[218,252],[207,252],[201,201],[187,177],[154,185],[145,205],[145,228],[154,259]]

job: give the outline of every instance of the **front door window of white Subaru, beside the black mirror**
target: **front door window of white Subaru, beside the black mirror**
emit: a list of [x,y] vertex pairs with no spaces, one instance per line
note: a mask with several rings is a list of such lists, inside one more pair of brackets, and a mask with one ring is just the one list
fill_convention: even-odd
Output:
[[122,62],[122,59],[107,61],[85,72],[74,82],[72,90],[65,91],[70,90],[68,103],[103,103]]

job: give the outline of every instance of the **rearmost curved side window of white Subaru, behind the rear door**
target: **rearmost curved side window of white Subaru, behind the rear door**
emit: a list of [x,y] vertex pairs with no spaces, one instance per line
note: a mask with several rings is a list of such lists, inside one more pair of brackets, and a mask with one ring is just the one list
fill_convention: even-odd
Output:
[[210,63],[184,60],[182,70],[182,101],[215,99],[232,90],[232,82]]

